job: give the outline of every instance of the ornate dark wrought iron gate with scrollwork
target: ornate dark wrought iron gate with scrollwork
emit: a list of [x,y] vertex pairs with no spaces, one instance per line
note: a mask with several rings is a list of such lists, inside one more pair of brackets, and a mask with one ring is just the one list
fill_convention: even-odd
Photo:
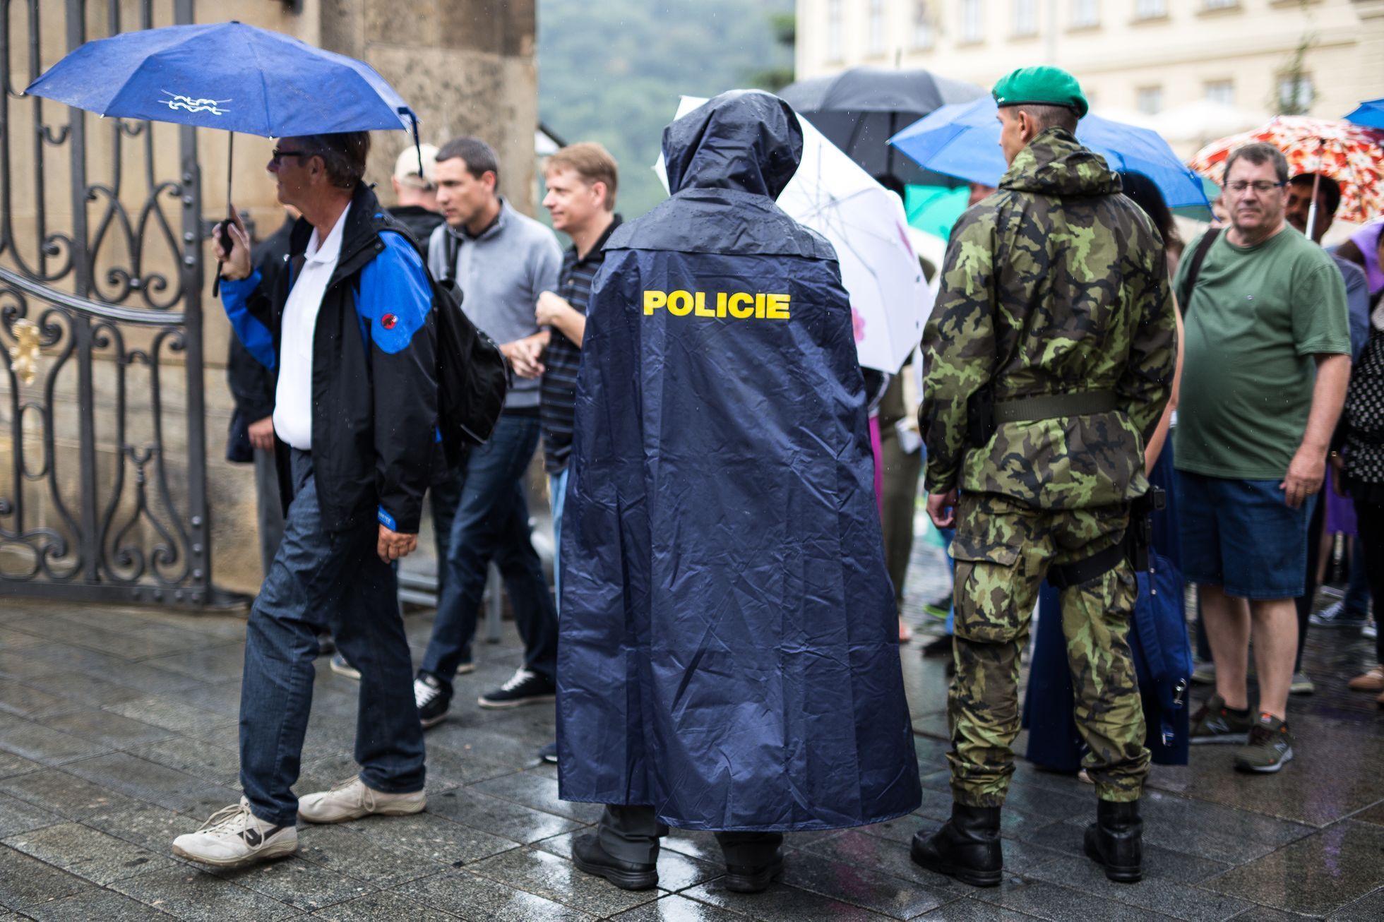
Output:
[[87,39],[192,22],[192,6],[0,0],[0,595],[221,601],[195,130],[15,86]]

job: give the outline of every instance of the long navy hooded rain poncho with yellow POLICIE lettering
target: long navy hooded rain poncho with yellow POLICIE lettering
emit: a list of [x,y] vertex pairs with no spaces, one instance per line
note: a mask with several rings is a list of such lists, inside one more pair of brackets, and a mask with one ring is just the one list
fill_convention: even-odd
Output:
[[832,246],[774,204],[801,129],[728,93],[591,292],[562,526],[561,796],[689,829],[919,803],[865,395]]

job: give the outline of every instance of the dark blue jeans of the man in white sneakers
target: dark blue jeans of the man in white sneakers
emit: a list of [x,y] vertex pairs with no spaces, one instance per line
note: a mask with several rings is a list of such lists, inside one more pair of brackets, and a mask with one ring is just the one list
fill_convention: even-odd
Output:
[[241,788],[251,811],[275,825],[298,820],[292,786],[313,705],[317,633],[324,626],[360,670],[360,779],[388,793],[424,789],[412,660],[394,570],[375,554],[379,527],[371,519],[350,532],[328,532],[317,505],[313,457],[293,450],[291,464],[293,503],[245,626],[241,685]]

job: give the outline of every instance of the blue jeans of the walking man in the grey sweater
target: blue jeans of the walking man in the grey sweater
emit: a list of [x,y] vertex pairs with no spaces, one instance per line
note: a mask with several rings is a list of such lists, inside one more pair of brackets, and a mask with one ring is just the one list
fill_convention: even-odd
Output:
[[[490,440],[471,450],[447,485],[450,489],[433,490],[433,526],[450,537],[446,568],[439,575],[437,617],[422,670],[436,676],[448,692],[457,667],[471,662],[476,612],[491,558],[504,577],[525,644],[525,669],[548,681],[556,673],[558,613],[538,552],[533,550],[523,494],[523,475],[537,447],[538,417],[504,413]],[[453,500],[455,505],[447,508]]]

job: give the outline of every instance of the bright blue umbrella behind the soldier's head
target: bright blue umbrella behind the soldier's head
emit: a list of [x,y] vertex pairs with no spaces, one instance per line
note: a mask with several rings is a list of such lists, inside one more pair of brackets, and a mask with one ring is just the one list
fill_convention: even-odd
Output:
[[[1008,169],[999,150],[995,100],[944,105],[890,138],[919,166],[981,186],[999,186]],[[1168,208],[1211,208],[1200,177],[1187,169],[1157,132],[1088,115],[1077,140],[1106,158],[1113,170],[1143,173]]]

